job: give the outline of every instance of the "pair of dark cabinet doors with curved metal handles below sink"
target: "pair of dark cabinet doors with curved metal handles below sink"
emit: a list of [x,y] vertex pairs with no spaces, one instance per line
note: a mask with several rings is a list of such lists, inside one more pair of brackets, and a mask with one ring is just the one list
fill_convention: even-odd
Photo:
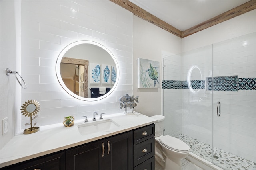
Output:
[[132,170],[132,132],[66,151],[67,170]]

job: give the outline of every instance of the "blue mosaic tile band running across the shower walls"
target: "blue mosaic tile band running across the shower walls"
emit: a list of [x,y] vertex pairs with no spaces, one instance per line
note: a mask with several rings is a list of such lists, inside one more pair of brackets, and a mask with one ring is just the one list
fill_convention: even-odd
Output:
[[[238,78],[237,76],[206,77],[206,81],[202,81],[201,89],[212,90],[212,84],[214,85],[214,91],[256,90],[256,78]],[[201,80],[192,80],[191,86],[193,89],[199,89]],[[188,89],[188,82],[162,80],[162,89]]]

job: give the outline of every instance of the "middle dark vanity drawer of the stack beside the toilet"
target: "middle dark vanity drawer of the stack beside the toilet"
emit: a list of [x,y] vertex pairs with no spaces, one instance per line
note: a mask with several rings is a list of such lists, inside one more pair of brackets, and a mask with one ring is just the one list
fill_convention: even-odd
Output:
[[133,146],[133,166],[137,166],[155,155],[155,138],[152,137]]

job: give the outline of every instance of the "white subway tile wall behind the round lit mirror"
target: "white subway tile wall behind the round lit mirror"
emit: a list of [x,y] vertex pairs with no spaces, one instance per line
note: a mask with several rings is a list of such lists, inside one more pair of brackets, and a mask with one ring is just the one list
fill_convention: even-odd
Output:
[[[119,113],[119,97],[132,93],[132,13],[102,0],[22,0],[21,69],[28,88],[22,103],[35,99],[41,104],[38,126],[61,123],[73,115],[92,117],[92,111]],[[75,99],[60,86],[55,64],[66,45],[80,40],[101,43],[116,57],[120,79],[116,90],[98,102]],[[22,126],[29,122],[21,116]]]

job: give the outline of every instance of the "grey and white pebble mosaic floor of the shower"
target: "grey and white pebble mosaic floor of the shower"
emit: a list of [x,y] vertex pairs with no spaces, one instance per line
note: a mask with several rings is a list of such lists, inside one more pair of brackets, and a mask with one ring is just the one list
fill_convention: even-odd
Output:
[[[211,159],[212,157],[212,147],[206,143],[198,141],[187,135],[180,134],[176,138],[184,141],[190,146],[190,151],[200,155],[201,157]],[[214,163],[216,162],[218,166],[228,170],[256,170],[256,163],[220,150],[218,148],[213,148],[214,150]]]

